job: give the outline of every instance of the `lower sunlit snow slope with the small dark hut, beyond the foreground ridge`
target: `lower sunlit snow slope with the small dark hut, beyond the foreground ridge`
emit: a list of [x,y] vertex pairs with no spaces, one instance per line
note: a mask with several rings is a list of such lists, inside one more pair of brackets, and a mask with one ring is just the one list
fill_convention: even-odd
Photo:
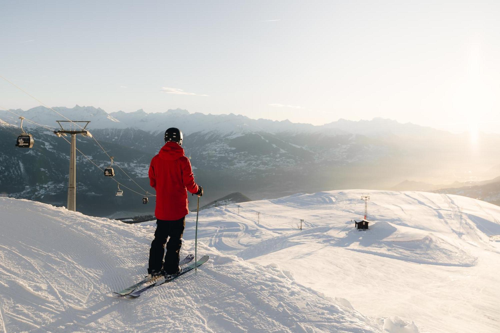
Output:
[[[239,215],[234,205],[206,209],[198,239],[246,261],[279,264],[297,282],[372,317],[395,314],[421,332],[498,332],[500,207],[371,190],[368,219],[375,221],[357,231],[351,219],[362,217],[365,192],[244,202]],[[193,230],[184,237],[194,238]]]

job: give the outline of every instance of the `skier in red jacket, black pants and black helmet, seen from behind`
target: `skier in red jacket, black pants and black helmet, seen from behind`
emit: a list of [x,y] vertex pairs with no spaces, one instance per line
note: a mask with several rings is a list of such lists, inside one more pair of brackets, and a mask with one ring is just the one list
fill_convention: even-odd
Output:
[[[156,190],[156,231],[149,249],[149,276],[175,274],[180,270],[181,238],[185,215],[189,212],[186,189],[198,196],[203,195],[203,188],[194,182],[191,163],[184,156],[181,145],[180,129],[168,128],[165,131],[165,145],[149,165],[149,183]],[[167,237],[170,237],[168,242]]]

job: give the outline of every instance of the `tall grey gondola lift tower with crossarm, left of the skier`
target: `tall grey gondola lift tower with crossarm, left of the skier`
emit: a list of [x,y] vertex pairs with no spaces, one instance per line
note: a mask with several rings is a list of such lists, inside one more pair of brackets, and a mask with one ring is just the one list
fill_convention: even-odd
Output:
[[[66,134],[71,134],[71,150],[69,153],[69,182],[67,186],[67,209],[76,211],[76,134],[82,134],[88,137],[92,137],[92,134],[85,128],[87,127],[88,123],[90,121],[84,121],[84,120],[76,120],[76,121],[70,121],[70,120],[56,120],[61,129],[54,130],[54,134],[57,136],[64,135]],[[62,126],[61,122],[69,122],[70,127],[69,129],[66,129]],[[78,125],[78,123],[84,123],[83,126]],[[75,126],[71,126],[75,125]],[[78,128],[76,128],[78,126]]]

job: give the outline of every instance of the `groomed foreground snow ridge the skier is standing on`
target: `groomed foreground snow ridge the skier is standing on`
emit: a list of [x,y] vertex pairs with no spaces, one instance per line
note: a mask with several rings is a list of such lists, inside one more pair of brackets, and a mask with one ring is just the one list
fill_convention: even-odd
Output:
[[[4,197],[0,216],[3,331],[417,331],[398,318],[366,317],[275,264],[254,265],[202,243],[199,253],[211,259],[197,275],[117,299],[111,291],[145,272],[152,226]],[[191,251],[188,240],[182,254]]]

